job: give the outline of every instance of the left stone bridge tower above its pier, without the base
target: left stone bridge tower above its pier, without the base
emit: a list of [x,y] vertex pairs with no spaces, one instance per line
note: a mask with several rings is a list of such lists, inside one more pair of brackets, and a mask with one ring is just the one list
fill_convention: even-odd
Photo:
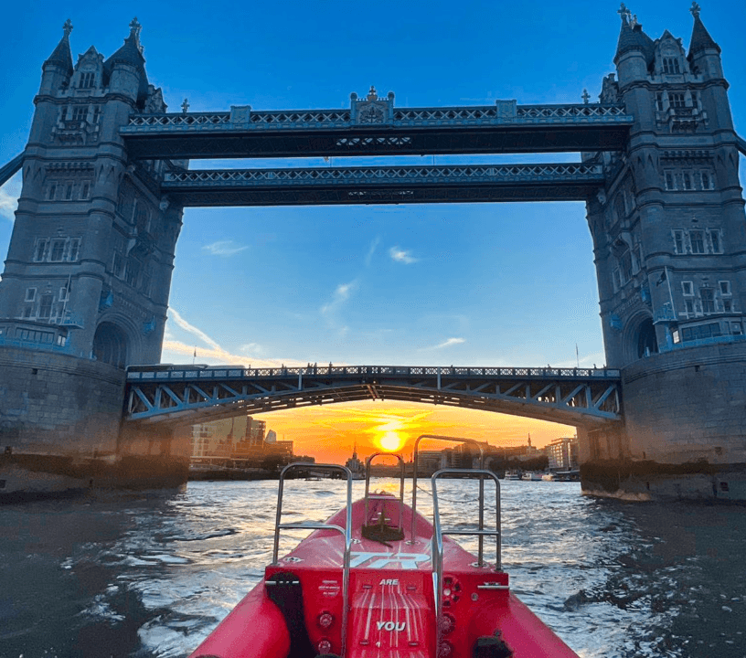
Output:
[[130,27],[73,66],[68,21],[44,62],[0,284],[9,339],[119,367],[160,360],[182,215],[159,194],[165,163],[130,162],[119,136],[133,112],[165,111]]

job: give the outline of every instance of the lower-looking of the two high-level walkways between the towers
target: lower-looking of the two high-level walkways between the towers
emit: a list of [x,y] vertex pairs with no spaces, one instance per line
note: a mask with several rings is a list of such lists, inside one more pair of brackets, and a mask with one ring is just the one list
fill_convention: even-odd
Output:
[[167,172],[179,205],[585,200],[603,185],[601,164],[479,164]]

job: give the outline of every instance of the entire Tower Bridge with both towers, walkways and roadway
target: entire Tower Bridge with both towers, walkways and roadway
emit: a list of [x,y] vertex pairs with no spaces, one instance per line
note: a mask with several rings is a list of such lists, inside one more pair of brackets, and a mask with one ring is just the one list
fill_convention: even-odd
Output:
[[[623,5],[599,102],[406,108],[371,89],[346,108],[294,111],[168,112],[136,19],[110,57],[91,47],[75,64],[68,21],[42,67],[27,147],[0,167],[0,182],[23,171],[0,281],[0,482],[47,472],[71,486],[105,464],[124,483],[179,482],[179,422],[385,398],[574,424],[590,493],[746,499],[746,141],[720,48],[697,3],[691,13],[685,48],[667,30],[649,37]],[[563,152],[575,155],[540,161]],[[397,165],[511,153],[537,162]],[[188,162],[371,155],[387,164]],[[611,370],[126,374],[160,360],[185,207],[559,199],[586,205]]]

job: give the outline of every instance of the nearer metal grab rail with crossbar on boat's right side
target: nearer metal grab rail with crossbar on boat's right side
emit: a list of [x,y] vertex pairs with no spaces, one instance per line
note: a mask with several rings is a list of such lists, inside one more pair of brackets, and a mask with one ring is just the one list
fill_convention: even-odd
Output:
[[[441,527],[441,515],[438,507],[438,487],[437,480],[442,475],[450,475],[458,479],[472,479],[479,478],[479,529],[478,530],[443,530]],[[485,512],[485,476],[492,478],[495,481],[495,502],[496,502],[496,528],[495,530],[485,530],[484,528],[484,512]],[[484,564],[483,560],[483,546],[482,542],[485,536],[496,537],[496,571],[502,571],[502,558],[501,558],[501,526],[500,526],[500,481],[492,471],[486,471],[484,469],[441,469],[432,474],[432,563],[433,563],[433,576],[435,578],[434,589],[435,589],[435,646],[440,646],[441,641],[441,614],[442,614],[442,560],[443,560],[443,535],[464,535],[464,536],[478,536],[479,537],[479,556],[477,564],[482,567]]]

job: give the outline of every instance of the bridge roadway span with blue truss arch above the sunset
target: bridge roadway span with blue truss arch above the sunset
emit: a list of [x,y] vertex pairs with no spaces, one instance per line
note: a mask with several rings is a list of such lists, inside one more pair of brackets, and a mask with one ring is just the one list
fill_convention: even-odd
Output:
[[185,425],[278,409],[397,400],[588,429],[621,420],[619,370],[443,366],[136,366],[124,421]]

